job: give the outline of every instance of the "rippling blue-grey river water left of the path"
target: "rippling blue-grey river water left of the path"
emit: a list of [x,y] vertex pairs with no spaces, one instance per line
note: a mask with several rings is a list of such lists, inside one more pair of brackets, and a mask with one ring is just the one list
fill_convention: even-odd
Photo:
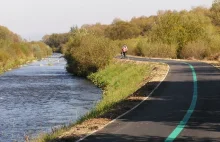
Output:
[[0,75],[0,142],[23,142],[75,122],[100,100],[100,89],[65,66],[53,54]]

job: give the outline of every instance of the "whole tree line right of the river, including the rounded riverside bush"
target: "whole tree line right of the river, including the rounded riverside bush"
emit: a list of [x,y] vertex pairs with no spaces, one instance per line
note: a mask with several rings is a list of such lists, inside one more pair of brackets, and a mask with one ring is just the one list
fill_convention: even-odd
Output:
[[220,1],[214,0],[211,8],[158,11],[130,21],[117,18],[109,25],[74,26],[68,33],[46,35],[43,41],[66,55],[71,72],[87,75],[108,64],[123,44],[132,55],[218,59],[219,34]]

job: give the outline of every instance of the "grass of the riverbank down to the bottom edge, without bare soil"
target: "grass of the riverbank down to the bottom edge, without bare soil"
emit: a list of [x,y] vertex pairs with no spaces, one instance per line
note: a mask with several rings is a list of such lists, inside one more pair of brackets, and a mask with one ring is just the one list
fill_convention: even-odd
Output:
[[[78,120],[77,123],[59,130],[53,130],[52,133],[42,135],[33,142],[60,141],[59,137],[65,135],[66,132],[70,131],[76,125],[92,120],[93,118],[99,119],[105,114],[111,114],[110,111],[138,90],[143,85],[143,82],[149,80],[153,69],[155,69],[154,63],[115,61],[105,69],[89,75],[88,78],[103,89],[102,99],[97,103],[96,107]],[[117,117],[115,114],[113,113],[114,116],[110,115],[109,118]],[[91,130],[93,128],[96,127],[92,126],[88,129]],[[73,141],[74,138],[71,140]]]

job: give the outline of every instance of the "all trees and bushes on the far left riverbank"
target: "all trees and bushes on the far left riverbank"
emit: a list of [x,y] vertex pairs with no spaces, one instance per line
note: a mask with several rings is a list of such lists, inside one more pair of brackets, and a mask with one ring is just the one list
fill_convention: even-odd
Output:
[[44,43],[24,42],[18,35],[0,26],[0,73],[51,53]]

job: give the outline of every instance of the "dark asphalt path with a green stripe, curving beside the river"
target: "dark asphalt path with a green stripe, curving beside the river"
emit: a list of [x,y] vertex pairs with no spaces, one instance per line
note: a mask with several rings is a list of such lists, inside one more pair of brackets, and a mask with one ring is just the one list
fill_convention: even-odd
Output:
[[[201,62],[150,61],[170,66],[158,89],[135,110],[82,142],[162,142],[177,127],[182,127],[179,125],[183,121],[185,127],[174,141],[220,142],[220,71]],[[195,108],[190,108],[193,103]],[[189,119],[186,121],[187,114]]]

